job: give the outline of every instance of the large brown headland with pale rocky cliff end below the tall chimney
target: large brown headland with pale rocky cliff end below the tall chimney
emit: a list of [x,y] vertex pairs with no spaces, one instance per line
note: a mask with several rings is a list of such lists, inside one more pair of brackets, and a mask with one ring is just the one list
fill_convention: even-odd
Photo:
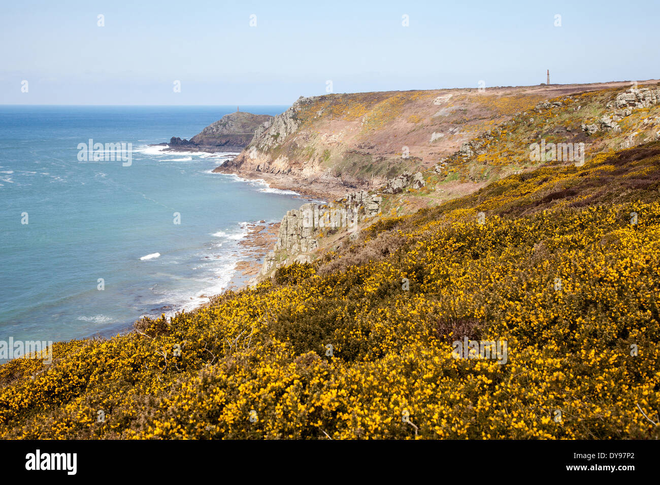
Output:
[[467,158],[484,154],[482,146],[471,145],[475,139],[546,100],[628,86],[611,82],[301,97],[261,123],[244,150],[215,172],[260,178],[276,188],[326,199],[342,197],[376,189],[406,171],[423,172],[460,150]]

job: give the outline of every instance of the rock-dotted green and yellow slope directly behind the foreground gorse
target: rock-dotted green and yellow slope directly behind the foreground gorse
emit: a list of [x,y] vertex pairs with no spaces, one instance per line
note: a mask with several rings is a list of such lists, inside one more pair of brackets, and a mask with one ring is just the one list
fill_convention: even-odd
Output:
[[[659,86],[649,84],[655,89]],[[622,92],[625,90],[621,88],[607,88],[562,95],[547,100],[551,105],[549,108],[528,106],[512,119],[490,125],[487,131],[466,142],[471,145],[471,153],[457,150],[442,158],[436,166],[424,171],[426,187],[390,197],[384,205],[384,212],[407,214],[423,207],[435,207],[512,174],[568,163],[550,159],[550,153],[546,160],[531,160],[530,146],[541,141],[572,147],[583,144],[584,160],[588,161],[604,151],[660,139],[660,104],[631,110],[628,116],[618,121],[616,130],[589,134],[581,129],[583,124],[596,123],[615,113],[608,103]]]

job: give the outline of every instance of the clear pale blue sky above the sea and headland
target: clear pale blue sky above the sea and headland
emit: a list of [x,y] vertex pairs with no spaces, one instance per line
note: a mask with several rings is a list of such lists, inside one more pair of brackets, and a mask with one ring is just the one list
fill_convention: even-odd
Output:
[[0,104],[642,81],[659,18],[659,0],[3,1]]

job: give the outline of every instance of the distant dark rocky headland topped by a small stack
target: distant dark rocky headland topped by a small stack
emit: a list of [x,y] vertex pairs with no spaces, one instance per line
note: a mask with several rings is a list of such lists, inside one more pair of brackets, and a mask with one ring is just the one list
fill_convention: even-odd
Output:
[[252,141],[255,130],[272,119],[271,115],[255,115],[246,112],[229,113],[215,123],[211,123],[190,140],[172,137],[168,145],[175,150],[177,148],[187,150],[195,148],[211,152],[242,150]]

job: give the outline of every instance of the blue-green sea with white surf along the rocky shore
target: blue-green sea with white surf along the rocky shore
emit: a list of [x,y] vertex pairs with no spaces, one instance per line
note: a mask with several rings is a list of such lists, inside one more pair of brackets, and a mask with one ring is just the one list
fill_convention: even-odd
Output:
[[[192,137],[235,109],[0,106],[0,340],[114,335],[226,288],[245,223],[280,220],[304,201],[211,173],[232,154],[148,145]],[[79,160],[88,139],[132,143],[131,165]]]

